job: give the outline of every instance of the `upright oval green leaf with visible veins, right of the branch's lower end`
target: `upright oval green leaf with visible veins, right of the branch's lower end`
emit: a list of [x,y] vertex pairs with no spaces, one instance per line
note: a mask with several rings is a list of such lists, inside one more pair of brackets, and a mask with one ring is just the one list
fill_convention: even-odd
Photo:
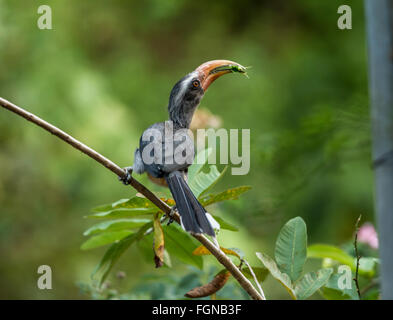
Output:
[[307,227],[300,217],[289,220],[281,229],[274,252],[281,272],[296,281],[307,258]]

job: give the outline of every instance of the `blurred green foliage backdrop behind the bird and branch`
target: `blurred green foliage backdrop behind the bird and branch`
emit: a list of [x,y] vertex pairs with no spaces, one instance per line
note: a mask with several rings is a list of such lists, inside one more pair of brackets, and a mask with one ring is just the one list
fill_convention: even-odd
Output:
[[[140,133],[167,119],[182,76],[213,59],[251,66],[249,79],[215,82],[200,106],[212,120],[202,125],[251,129],[250,173],[228,170],[215,187],[252,186],[214,207],[240,228],[219,239],[257,263],[255,251],[272,254],[282,225],[301,216],[310,244],[338,245],[359,214],[374,219],[363,2],[350,3],[353,29],[339,30],[344,2],[55,1],[47,3],[53,30],[40,30],[41,3],[0,0],[0,96],[127,166]],[[97,297],[90,274],[105,248],[80,250],[91,225],[83,217],[134,194],[95,161],[0,110],[0,298]],[[134,246],[110,281],[129,298],[177,298],[172,284],[182,296],[214,274],[213,259],[205,262],[203,271],[176,260],[156,270]],[[52,267],[52,290],[37,289],[42,264]],[[245,297],[235,282],[227,287],[223,297]],[[271,279],[265,292],[289,298]]]

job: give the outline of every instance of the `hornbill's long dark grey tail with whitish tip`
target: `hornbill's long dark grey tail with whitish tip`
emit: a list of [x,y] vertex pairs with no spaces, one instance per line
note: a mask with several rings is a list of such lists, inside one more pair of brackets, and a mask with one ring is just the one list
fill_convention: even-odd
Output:
[[205,233],[215,237],[214,229],[206,216],[206,210],[192,193],[183,175],[179,171],[171,172],[167,177],[169,189],[176,202],[182,226],[186,231]]

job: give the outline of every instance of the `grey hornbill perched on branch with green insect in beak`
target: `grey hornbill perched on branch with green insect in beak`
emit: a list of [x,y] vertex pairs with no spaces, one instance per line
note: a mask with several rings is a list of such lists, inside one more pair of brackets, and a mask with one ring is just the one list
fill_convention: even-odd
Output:
[[[188,134],[195,109],[209,85],[231,72],[245,73],[246,68],[229,60],[205,62],[180,79],[173,87],[168,104],[169,120],[147,128],[135,150],[134,164],[125,168],[128,174],[147,172],[153,180],[167,185],[176,202],[182,227],[192,233],[215,236],[214,219],[189,188],[187,168],[194,160],[194,142]],[[127,184],[129,175],[121,179]],[[213,220],[213,221],[212,221]]]

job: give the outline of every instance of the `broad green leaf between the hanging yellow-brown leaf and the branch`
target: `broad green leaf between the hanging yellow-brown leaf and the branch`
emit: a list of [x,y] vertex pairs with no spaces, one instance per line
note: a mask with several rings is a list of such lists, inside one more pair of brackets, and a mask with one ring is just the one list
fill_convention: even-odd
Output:
[[165,226],[164,233],[165,246],[171,255],[176,256],[180,261],[186,264],[202,269],[202,257],[192,254],[198,245],[189,233],[184,232],[174,225]]

